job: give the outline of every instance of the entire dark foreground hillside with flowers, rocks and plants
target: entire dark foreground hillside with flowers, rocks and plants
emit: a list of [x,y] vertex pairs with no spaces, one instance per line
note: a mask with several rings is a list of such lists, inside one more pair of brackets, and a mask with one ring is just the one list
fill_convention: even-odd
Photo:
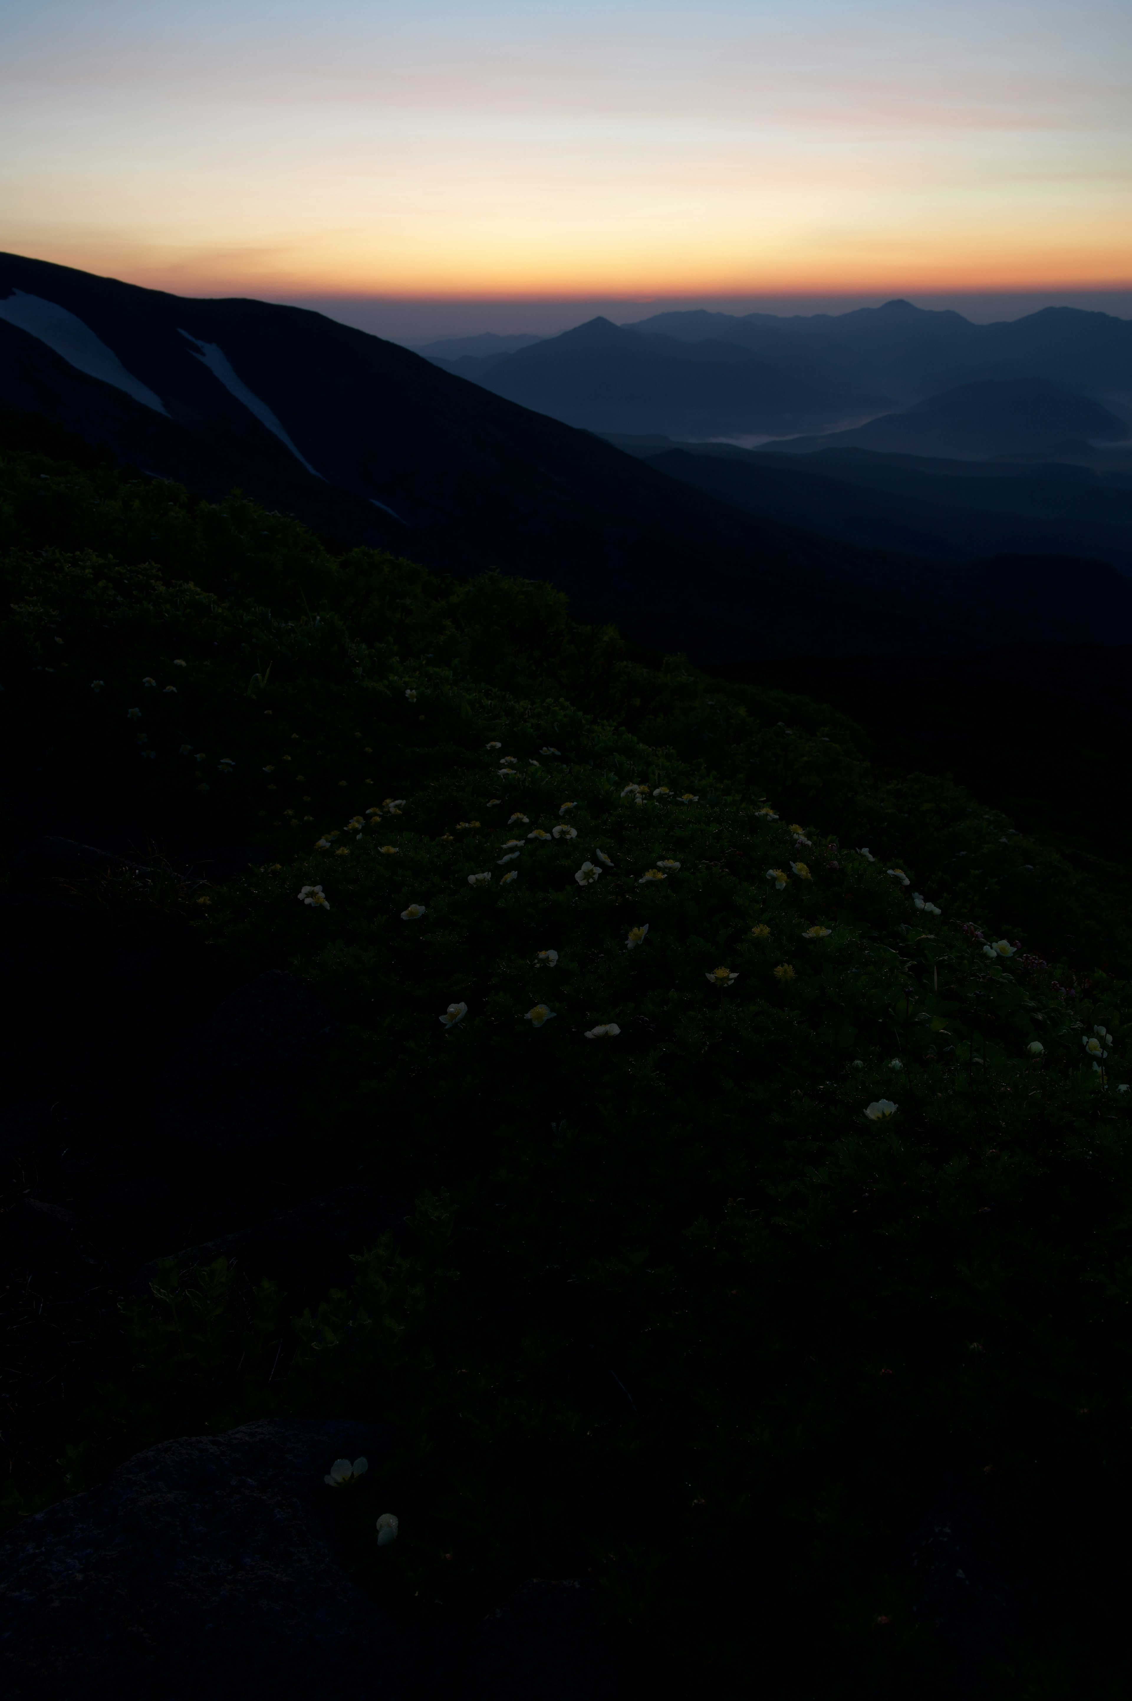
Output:
[[1127,1694],[1127,898],[546,585],[26,473],[5,1696]]

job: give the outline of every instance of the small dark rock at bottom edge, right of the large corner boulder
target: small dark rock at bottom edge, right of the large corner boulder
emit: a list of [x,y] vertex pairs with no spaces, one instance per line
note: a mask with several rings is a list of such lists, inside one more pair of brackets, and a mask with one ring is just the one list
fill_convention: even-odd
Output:
[[524,1584],[480,1626],[468,1691],[475,1701],[615,1701],[621,1689],[591,1589]]

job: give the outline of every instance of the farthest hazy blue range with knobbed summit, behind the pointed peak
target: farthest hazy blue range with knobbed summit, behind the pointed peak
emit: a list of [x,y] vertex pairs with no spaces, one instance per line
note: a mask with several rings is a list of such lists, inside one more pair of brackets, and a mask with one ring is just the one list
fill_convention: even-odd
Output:
[[626,328],[691,344],[740,344],[783,373],[797,371],[800,361],[819,361],[863,390],[900,400],[986,378],[1045,378],[1100,400],[1132,391],[1132,321],[1081,308],[1042,308],[1020,320],[975,325],[962,313],[889,301],[792,318],[657,313]]

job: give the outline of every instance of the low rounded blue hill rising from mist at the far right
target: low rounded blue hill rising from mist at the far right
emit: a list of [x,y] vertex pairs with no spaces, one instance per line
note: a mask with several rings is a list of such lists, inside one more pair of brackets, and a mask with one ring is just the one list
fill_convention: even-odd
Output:
[[[989,378],[928,396],[902,413],[885,413],[851,430],[797,437],[778,449],[880,449],[895,454],[987,459],[1052,454],[1091,442],[1125,441],[1129,429],[1110,408],[1059,390],[1045,378]],[[1132,447],[1132,444],[1129,444]]]

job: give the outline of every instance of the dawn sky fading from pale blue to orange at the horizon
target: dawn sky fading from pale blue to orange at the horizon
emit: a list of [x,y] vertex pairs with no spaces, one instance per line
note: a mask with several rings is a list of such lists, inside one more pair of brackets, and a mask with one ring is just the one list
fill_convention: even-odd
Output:
[[1117,299],[1132,5],[0,0],[0,247],[420,335]]

